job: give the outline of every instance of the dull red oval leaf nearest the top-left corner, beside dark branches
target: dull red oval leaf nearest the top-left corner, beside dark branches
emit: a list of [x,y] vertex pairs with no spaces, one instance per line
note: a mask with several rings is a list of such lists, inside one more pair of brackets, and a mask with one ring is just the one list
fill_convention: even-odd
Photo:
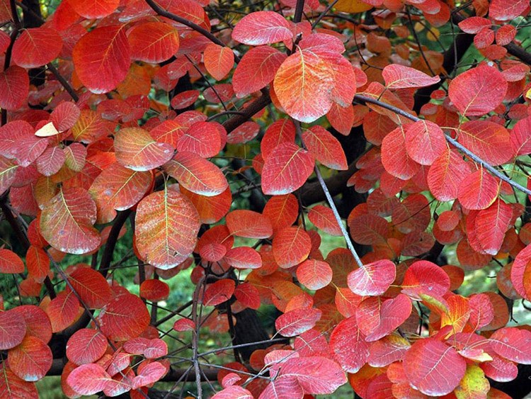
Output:
[[35,68],[52,62],[61,52],[61,36],[41,26],[22,31],[13,45],[13,63],[23,68]]

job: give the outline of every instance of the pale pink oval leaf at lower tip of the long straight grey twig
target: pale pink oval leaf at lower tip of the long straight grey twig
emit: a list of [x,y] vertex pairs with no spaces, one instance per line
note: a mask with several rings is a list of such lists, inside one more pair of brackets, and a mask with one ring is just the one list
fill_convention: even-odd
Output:
[[396,266],[389,259],[365,264],[348,274],[348,288],[360,296],[382,295],[396,277]]

